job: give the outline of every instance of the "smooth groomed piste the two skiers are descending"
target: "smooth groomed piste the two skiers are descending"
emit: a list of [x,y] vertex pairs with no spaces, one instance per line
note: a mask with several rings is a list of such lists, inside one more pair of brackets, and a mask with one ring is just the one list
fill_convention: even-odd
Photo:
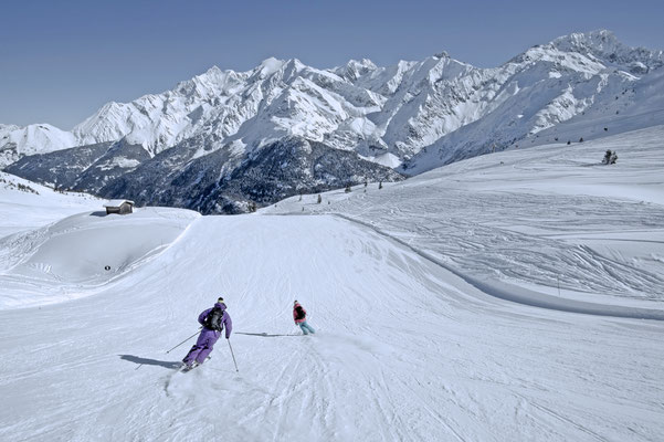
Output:
[[[173,367],[220,294],[238,332]],[[310,312],[297,335],[291,305]],[[2,312],[2,440],[657,440],[652,322],[505,303],[331,217],[205,217],[113,290]],[[239,333],[286,336],[254,336]],[[145,364],[138,368],[138,364]]]

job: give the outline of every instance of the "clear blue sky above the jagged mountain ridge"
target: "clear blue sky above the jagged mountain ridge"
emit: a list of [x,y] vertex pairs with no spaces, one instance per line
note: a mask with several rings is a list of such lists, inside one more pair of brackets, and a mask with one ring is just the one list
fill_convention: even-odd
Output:
[[331,67],[445,50],[488,67],[596,29],[664,49],[661,0],[3,0],[0,13],[0,123],[63,129],[106,102],[171,88],[212,65],[250,70],[268,56]]

